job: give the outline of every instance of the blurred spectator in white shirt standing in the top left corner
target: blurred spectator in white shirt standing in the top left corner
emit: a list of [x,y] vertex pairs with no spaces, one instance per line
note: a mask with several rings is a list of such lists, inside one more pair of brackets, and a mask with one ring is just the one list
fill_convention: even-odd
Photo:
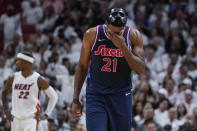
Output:
[[21,17],[20,14],[15,13],[13,5],[9,4],[7,6],[6,13],[0,17],[0,24],[3,25],[4,49],[6,49],[16,34],[22,36]]

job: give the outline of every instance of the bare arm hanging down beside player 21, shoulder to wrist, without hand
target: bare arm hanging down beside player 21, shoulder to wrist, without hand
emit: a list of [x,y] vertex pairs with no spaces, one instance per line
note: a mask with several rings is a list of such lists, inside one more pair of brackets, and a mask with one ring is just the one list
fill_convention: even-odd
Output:
[[91,28],[86,31],[83,37],[81,55],[76,69],[75,80],[74,80],[73,98],[77,100],[79,99],[81,88],[87,76],[90,53],[91,53],[91,44],[94,41],[95,34],[96,34],[96,28]]

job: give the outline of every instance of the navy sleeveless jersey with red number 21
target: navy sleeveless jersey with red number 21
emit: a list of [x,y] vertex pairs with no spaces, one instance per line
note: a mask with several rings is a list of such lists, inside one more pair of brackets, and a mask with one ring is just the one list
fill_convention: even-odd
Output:
[[[123,36],[126,46],[131,48],[129,32],[130,28],[125,27]],[[122,51],[109,40],[106,25],[96,28],[90,59],[87,93],[111,94],[131,89],[131,69]]]

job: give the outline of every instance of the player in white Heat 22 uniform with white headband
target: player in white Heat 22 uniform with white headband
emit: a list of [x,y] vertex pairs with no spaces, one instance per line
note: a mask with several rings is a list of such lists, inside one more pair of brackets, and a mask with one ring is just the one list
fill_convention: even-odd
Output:
[[[2,93],[4,112],[7,119],[12,121],[11,131],[37,131],[39,120],[45,120],[52,112],[57,94],[40,74],[32,71],[34,58],[31,53],[18,53],[16,65],[20,70],[6,81]],[[44,115],[40,114],[40,90],[49,97]],[[12,90],[12,110],[8,108],[8,94]],[[13,117],[13,118],[12,118]]]

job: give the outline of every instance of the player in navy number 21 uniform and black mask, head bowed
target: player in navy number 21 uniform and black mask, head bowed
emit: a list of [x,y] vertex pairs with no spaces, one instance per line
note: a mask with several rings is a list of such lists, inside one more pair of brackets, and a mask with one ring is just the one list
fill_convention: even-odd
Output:
[[86,88],[87,131],[131,130],[131,71],[144,72],[142,36],[125,26],[127,12],[108,11],[106,24],[86,31],[75,74],[72,115],[80,119],[79,95],[90,71]]

